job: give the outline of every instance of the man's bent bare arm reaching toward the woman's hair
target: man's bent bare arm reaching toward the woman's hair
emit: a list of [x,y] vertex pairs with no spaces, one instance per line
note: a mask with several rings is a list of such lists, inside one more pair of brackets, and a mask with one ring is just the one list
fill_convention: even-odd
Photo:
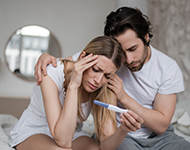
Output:
[[122,80],[114,75],[108,87],[117,95],[118,101],[129,110],[134,111],[144,120],[143,125],[157,134],[162,134],[168,128],[176,107],[176,94],[160,94],[155,96],[153,109],[140,105],[123,89]]

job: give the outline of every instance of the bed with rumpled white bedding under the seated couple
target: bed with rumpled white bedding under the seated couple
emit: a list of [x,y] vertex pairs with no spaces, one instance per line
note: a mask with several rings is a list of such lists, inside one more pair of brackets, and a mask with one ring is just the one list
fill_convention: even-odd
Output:
[[[190,101],[182,101],[177,104],[171,123],[175,133],[190,142]],[[11,114],[0,114],[0,150],[14,150],[9,146],[10,130],[18,119]],[[83,130],[90,135],[94,132],[93,118],[90,115],[84,122]]]

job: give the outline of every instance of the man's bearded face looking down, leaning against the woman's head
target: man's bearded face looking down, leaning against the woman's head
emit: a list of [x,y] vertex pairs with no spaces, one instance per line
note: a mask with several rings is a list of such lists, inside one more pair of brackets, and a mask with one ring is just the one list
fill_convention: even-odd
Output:
[[121,43],[125,51],[126,60],[123,62],[124,65],[133,72],[141,70],[144,63],[150,59],[150,48],[144,45],[131,29],[115,38]]

